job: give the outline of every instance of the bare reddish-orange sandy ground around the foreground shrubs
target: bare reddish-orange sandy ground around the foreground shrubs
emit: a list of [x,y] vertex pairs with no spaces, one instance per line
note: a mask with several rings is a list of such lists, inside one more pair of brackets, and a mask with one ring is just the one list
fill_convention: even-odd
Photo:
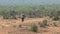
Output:
[[[47,20],[49,26],[42,28],[38,25],[39,22]],[[53,25],[53,22],[57,23],[57,27]],[[32,24],[38,26],[38,32],[30,31]],[[22,27],[19,27],[22,25]],[[60,34],[60,20],[53,21],[51,18],[26,18],[24,22],[21,22],[21,19],[2,19],[0,17],[0,34]]]

